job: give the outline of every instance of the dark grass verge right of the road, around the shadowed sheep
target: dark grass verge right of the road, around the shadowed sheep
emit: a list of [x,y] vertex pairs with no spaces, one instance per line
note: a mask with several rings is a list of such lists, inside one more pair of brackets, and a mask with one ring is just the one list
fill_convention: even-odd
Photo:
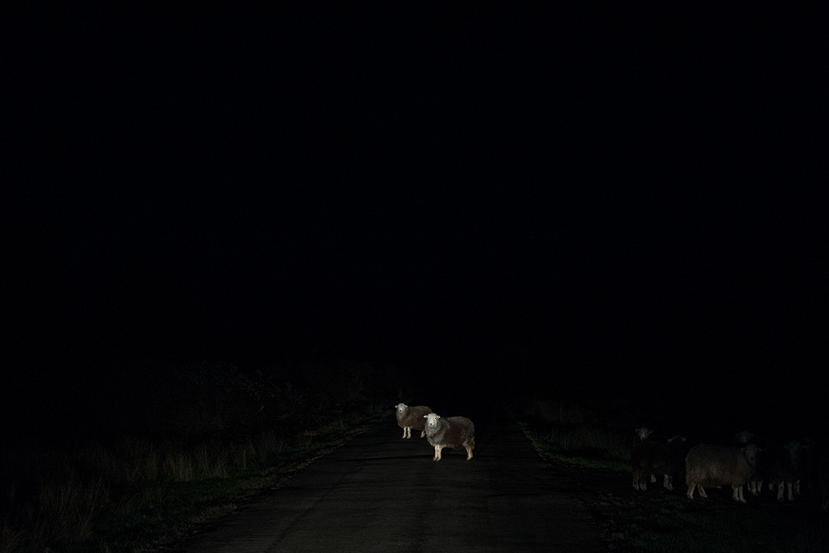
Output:
[[[630,474],[633,421],[602,425],[600,412],[562,403],[543,416],[527,410],[521,424],[538,454],[579,478],[585,503],[602,527],[610,551],[631,553],[817,553],[829,551],[829,518],[814,494],[777,502],[768,492],[734,502],[730,487],[710,488],[708,498],[686,497],[684,475],[674,489],[662,479],[633,490]],[[555,416],[550,416],[554,414]],[[626,430],[627,429],[627,430]],[[725,489],[729,488],[729,489]]]

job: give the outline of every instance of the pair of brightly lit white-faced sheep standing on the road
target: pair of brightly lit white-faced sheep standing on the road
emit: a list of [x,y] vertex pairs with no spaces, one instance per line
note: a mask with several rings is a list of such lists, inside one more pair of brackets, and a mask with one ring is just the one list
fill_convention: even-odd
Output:
[[420,430],[420,437],[426,436],[434,447],[433,461],[440,460],[440,450],[466,449],[467,460],[475,449],[475,425],[466,417],[444,417],[432,412],[425,405],[395,405],[397,425],[403,429],[403,437],[411,438],[412,429]]

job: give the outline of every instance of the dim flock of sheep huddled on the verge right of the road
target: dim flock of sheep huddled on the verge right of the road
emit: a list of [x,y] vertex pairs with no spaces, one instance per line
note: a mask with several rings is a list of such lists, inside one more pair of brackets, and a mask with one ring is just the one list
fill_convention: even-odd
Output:
[[760,444],[747,430],[734,435],[734,444],[697,444],[686,448],[686,439],[674,436],[657,442],[647,439],[652,430],[636,429],[631,451],[633,489],[647,489],[647,480],[663,477],[673,489],[673,478],[685,469],[688,499],[694,492],[708,497],[705,488],[731,486],[734,501],[745,503],[744,488],[759,496],[764,485],[779,501],[794,501],[801,483],[817,492],[821,507],[829,507],[829,451],[808,440],[788,444]]

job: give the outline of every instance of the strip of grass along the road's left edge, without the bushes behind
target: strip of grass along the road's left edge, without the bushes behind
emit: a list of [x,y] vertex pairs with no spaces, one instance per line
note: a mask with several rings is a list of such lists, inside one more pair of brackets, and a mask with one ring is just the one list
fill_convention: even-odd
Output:
[[[264,433],[242,443],[121,440],[114,449],[78,449],[58,464],[44,454],[41,466],[50,471],[16,524],[0,524],[0,552],[155,551],[255,493],[279,488],[313,459],[364,432],[382,411],[369,405],[292,436]],[[148,458],[157,470],[148,468]]]

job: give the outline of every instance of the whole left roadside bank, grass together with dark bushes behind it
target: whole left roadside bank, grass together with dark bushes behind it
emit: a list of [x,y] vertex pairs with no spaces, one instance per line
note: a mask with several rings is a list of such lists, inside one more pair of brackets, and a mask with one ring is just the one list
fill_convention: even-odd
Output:
[[362,366],[318,370],[301,388],[222,365],[164,374],[177,386],[141,374],[153,389],[133,381],[119,396],[130,414],[147,407],[143,431],[0,450],[0,553],[159,551],[364,432],[396,389],[395,371],[386,382]]

